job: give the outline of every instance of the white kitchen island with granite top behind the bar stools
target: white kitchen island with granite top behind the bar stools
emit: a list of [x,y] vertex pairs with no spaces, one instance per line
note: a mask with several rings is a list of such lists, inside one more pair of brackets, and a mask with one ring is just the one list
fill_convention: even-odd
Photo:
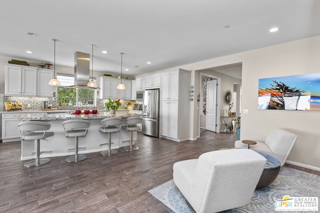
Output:
[[[23,113],[18,115],[21,121],[43,121],[49,123],[51,128],[48,130],[54,132],[54,135],[47,138],[47,141],[40,141],[40,151],[51,151],[52,153],[42,153],[40,158],[50,158],[58,156],[73,155],[74,138],[66,138],[62,127],[62,122],[69,119],[86,119],[90,122],[87,135],[79,137],[78,146],[86,147],[86,149],[79,149],[78,154],[101,152],[107,150],[107,135],[99,132],[98,128],[102,127],[101,120],[109,117],[121,117],[123,119],[133,116],[140,116],[139,114],[130,112],[117,111],[115,115],[109,112],[99,112],[98,114],[71,114],[66,112],[60,113]],[[123,125],[123,124],[122,124]],[[136,132],[133,132],[133,140],[136,140]],[[129,146],[130,133],[124,130],[112,133],[111,135],[111,149],[118,149],[120,147]],[[33,159],[35,152],[35,142],[33,140],[23,141],[21,144],[21,161]]]

